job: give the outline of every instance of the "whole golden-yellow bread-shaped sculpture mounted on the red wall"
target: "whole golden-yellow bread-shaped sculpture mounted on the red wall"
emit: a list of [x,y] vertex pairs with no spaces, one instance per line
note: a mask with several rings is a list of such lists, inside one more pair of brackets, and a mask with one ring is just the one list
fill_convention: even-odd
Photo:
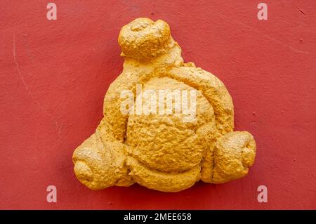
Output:
[[[124,70],[107,90],[96,133],[72,157],[80,182],[91,190],[138,183],[178,192],[198,180],[225,183],[246,176],[256,155],[253,136],[233,131],[234,107],[225,85],[194,63],[183,62],[169,25],[133,20],[122,27],[119,46]],[[152,103],[137,95],[138,85],[156,93],[196,90],[195,119],[184,121],[183,111],[135,112],[133,106],[122,112],[124,91],[136,101],[141,98],[143,107]]]

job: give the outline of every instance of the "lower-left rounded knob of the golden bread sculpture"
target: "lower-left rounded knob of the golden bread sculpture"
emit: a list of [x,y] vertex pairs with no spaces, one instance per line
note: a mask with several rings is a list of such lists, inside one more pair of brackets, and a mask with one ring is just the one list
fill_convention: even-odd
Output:
[[96,133],[79,145],[72,155],[74,173],[91,190],[134,183],[126,167],[126,146],[117,140],[107,140],[110,132],[103,119]]

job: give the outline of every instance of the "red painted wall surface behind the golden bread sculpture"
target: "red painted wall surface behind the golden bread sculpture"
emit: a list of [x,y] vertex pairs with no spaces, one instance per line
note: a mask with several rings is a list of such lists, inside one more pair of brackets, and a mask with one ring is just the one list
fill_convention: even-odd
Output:
[[[0,209],[316,209],[316,3],[265,1],[1,1]],[[72,152],[102,117],[121,72],[117,37],[138,17],[169,22],[193,61],[224,81],[237,130],[253,133],[245,178],[163,193],[139,185],[93,192]],[[46,187],[57,187],[57,203]],[[268,187],[258,203],[257,187]]]

